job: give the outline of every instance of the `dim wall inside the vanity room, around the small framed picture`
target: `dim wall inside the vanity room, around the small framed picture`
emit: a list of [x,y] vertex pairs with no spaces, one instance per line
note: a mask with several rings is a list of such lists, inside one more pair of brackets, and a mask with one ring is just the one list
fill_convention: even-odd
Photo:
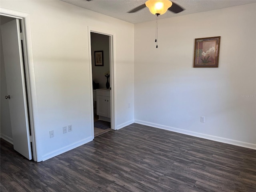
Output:
[[[110,70],[109,65],[109,36],[98,33],[91,33],[91,48],[92,48],[92,77],[96,83],[99,83],[99,88],[106,88],[107,78],[105,72]],[[95,66],[94,51],[103,51],[103,66]],[[110,78],[108,78],[110,82]]]

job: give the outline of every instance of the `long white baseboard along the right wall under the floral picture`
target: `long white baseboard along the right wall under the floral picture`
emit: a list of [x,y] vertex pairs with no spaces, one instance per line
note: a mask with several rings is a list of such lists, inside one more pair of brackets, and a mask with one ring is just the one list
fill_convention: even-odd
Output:
[[173,131],[173,132],[182,133],[182,134],[186,134],[186,135],[190,135],[190,136],[195,136],[195,137],[199,137],[199,138],[209,139],[209,140],[213,140],[213,141],[218,141],[218,142],[222,142],[222,143],[232,144],[232,145],[256,150],[256,144],[253,144],[253,143],[247,143],[247,142],[232,140],[232,139],[228,139],[228,138],[222,138],[222,137],[212,136],[212,135],[208,135],[208,134],[202,134],[202,133],[198,133],[198,132],[178,129],[178,128],[174,128],[174,127],[170,127],[170,126],[150,123],[150,122],[141,121],[141,120],[134,120],[134,122],[138,123],[138,124],[146,125],[146,126],[151,126],[151,127],[155,127],[155,128],[168,130],[168,131]]

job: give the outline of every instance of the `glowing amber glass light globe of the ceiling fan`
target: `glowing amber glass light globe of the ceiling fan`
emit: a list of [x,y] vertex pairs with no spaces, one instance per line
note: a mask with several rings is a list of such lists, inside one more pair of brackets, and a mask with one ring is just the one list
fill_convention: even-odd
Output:
[[152,14],[164,14],[172,6],[169,0],[148,0],[146,6]]

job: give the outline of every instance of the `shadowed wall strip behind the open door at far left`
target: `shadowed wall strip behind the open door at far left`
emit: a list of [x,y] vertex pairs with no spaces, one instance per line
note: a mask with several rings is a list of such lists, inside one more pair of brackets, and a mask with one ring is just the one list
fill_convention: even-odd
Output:
[[[2,20],[1,20],[2,21]],[[2,23],[2,22],[1,22]],[[8,142],[12,143],[12,127],[11,127],[11,120],[10,120],[10,110],[9,110],[9,102],[5,99],[5,96],[8,95],[7,91],[7,84],[6,84],[6,74],[5,74],[5,66],[4,66],[4,52],[2,46],[2,36],[0,36],[0,77],[1,77],[1,93],[0,93],[0,131],[1,131],[1,138],[7,140]]]

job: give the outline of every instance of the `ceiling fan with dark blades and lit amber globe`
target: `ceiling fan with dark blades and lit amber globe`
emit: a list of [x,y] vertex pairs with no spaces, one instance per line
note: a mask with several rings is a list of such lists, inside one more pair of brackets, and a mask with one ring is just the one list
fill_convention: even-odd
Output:
[[139,10],[142,10],[143,8],[148,7],[150,12],[152,14],[162,15],[164,14],[167,10],[174,12],[174,13],[179,13],[182,12],[184,9],[179,6],[178,4],[171,2],[169,0],[148,0],[146,1],[145,4],[142,4],[130,11],[128,13],[134,13]]

